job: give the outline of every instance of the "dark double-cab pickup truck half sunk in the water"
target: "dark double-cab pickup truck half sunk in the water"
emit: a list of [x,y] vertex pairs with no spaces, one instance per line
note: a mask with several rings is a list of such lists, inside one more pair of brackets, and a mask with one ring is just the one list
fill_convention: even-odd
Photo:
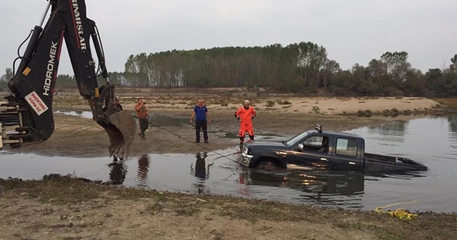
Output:
[[238,163],[255,169],[304,168],[361,171],[426,171],[411,159],[365,152],[365,140],[356,134],[316,129],[288,141],[247,141]]

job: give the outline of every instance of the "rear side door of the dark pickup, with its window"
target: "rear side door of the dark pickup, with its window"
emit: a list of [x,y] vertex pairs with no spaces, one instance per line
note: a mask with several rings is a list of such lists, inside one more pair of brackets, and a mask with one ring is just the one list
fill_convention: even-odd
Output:
[[333,140],[332,154],[328,155],[330,169],[336,170],[362,170],[361,160],[363,148],[360,139],[336,136]]

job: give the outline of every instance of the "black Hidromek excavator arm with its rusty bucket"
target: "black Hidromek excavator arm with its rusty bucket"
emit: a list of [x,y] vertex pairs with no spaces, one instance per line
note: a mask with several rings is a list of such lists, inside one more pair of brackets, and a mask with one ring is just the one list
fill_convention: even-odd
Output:
[[[11,90],[0,104],[0,150],[39,144],[54,132],[52,100],[62,44],[66,44],[79,94],[89,104],[94,121],[109,136],[109,156],[126,159],[134,141],[136,121],[114,104],[115,84],[109,82],[104,49],[94,21],[86,17],[84,0],[48,0],[39,25],[34,26],[23,56],[13,62]],[[51,9],[49,19],[44,20]],[[92,58],[89,39],[99,61]],[[20,60],[18,69],[14,69]],[[101,76],[101,78],[99,78]],[[97,78],[101,79],[101,84]]]

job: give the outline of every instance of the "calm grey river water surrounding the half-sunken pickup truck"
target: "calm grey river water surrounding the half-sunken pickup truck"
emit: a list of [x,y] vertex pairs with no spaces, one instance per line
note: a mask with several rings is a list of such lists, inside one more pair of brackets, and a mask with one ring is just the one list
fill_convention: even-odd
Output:
[[[457,209],[457,116],[395,121],[349,131],[366,138],[366,151],[407,156],[430,170],[408,174],[345,171],[286,171],[266,174],[238,166],[236,146],[195,154],[132,156],[123,164],[105,157],[74,159],[0,151],[0,178],[41,179],[76,174],[111,184],[189,193],[230,194],[298,204],[373,210],[399,201],[411,211]],[[270,140],[271,138],[269,138]],[[268,140],[268,141],[269,141]],[[281,140],[281,139],[279,139]]]

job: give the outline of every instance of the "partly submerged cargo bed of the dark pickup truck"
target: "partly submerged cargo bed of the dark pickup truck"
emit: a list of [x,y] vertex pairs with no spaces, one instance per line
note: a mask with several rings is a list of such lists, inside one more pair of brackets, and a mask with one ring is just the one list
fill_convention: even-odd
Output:
[[366,171],[427,170],[427,167],[411,159],[398,156],[365,153]]

